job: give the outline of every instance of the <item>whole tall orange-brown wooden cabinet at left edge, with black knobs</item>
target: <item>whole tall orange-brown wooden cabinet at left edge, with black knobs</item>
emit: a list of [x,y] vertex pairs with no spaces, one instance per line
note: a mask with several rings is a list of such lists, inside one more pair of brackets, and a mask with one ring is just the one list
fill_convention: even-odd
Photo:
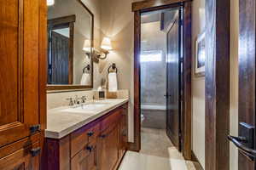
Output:
[[39,153],[46,124],[46,92],[39,88],[46,76],[45,7],[44,0],[0,1],[0,170],[39,169],[40,154],[32,151]]

